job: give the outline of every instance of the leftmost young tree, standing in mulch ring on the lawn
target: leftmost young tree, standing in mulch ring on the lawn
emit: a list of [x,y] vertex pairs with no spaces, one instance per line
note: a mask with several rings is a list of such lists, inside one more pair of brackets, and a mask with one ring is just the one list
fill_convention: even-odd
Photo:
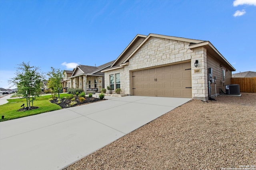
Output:
[[18,64],[16,77],[11,78],[9,83],[13,83],[18,88],[18,93],[28,97],[28,109],[30,109],[30,96],[39,96],[44,80],[44,74],[39,72],[39,67],[30,66],[29,62]]

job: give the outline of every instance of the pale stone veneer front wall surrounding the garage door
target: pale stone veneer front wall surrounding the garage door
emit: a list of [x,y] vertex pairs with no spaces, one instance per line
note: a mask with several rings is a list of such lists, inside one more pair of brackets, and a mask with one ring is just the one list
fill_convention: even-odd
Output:
[[[130,71],[144,69],[164,64],[191,61],[192,72],[192,98],[207,100],[207,65],[206,49],[198,47],[189,49],[189,42],[150,37],[142,47],[129,59],[129,64],[124,68],[105,72],[105,86],[109,86],[109,75],[120,73],[120,86],[123,93],[130,92]],[[198,67],[194,63],[198,60]],[[200,73],[194,73],[200,69]],[[106,87],[105,87],[106,88]]]

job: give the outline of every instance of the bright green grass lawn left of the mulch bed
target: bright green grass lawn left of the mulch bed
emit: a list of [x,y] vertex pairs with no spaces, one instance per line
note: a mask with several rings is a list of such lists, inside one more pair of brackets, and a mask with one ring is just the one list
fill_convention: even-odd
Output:
[[[60,94],[60,98],[68,95],[69,94]],[[60,106],[49,102],[51,97],[51,95],[37,97],[36,100],[33,101],[33,106],[37,106],[39,109],[28,111],[17,111],[18,109],[22,108],[20,107],[22,104],[25,104],[25,107],[27,106],[26,98],[8,99],[7,104],[0,105],[0,116],[2,117],[2,115],[4,115],[4,119],[0,119],[0,121],[17,119],[20,117],[61,109]],[[30,102],[30,106],[32,106],[32,102]]]

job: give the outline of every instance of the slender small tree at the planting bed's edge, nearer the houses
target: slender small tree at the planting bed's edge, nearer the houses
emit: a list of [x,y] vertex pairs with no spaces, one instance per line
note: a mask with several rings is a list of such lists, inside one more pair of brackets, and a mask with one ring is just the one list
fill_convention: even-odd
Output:
[[63,71],[51,67],[52,71],[48,72],[49,76],[48,87],[52,89],[52,97],[56,97],[59,88],[62,88],[61,79],[63,77]]

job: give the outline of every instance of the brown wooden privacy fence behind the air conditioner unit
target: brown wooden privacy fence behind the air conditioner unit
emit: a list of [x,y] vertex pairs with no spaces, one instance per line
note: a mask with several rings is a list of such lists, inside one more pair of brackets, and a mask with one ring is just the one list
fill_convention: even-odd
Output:
[[231,78],[232,84],[240,85],[240,92],[256,93],[256,77],[242,78],[233,77]]

